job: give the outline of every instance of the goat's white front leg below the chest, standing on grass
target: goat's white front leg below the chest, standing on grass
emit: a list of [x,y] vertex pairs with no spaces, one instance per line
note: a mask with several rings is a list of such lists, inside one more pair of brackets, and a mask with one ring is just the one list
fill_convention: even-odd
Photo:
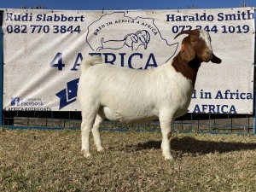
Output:
[[173,160],[171,153],[172,120],[160,118],[160,128],[162,132],[162,153],[165,160]]

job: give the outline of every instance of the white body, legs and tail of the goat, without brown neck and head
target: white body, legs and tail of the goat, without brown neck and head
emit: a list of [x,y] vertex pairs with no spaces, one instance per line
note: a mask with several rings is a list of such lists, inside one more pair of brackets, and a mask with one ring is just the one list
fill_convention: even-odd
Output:
[[94,57],[81,66],[78,96],[82,108],[84,155],[90,156],[89,132],[92,125],[97,150],[103,150],[98,132],[102,119],[125,123],[160,119],[163,154],[166,159],[172,159],[172,121],[187,112],[194,89],[192,81],[177,73],[172,61],[145,71],[106,64],[90,66],[100,61],[100,57]]

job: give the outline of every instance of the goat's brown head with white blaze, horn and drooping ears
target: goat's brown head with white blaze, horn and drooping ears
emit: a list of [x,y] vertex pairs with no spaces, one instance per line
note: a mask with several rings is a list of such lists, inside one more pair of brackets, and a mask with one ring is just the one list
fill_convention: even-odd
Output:
[[200,29],[186,30],[178,33],[175,38],[182,34],[189,35],[183,38],[182,42],[181,55],[183,60],[189,62],[196,55],[201,62],[221,63],[221,60],[212,52],[211,37],[208,32]]

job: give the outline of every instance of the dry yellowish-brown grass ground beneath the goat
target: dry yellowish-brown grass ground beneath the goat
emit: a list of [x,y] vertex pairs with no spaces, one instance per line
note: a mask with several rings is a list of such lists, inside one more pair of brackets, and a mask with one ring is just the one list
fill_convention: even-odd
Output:
[[256,137],[102,132],[107,152],[79,154],[79,131],[0,130],[0,191],[256,191]]

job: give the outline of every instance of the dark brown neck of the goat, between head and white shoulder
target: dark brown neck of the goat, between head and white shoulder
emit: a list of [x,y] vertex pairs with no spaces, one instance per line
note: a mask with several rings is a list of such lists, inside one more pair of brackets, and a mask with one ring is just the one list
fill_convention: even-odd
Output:
[[177,73],[182,73],[184,77],[190,79],[195,86],[196,75],[199,67],[201,67],[201,61],[197,56],[191,61],[184,61],[181,53],[179,52],[172,61],[172,67],[175,68]]

